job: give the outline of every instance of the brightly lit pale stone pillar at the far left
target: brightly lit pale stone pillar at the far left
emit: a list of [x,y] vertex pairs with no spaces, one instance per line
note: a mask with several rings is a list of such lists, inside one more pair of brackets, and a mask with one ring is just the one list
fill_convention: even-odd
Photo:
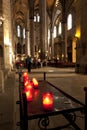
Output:
[[12,14],[10,0],[3,0],[3,35],[4,35],[4,65],[5,68],[10,69],[12,67]]

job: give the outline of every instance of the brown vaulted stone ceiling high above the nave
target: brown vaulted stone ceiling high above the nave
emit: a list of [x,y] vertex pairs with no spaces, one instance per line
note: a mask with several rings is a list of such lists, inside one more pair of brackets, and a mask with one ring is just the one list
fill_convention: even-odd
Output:
[[[56,14],[56,11],[58,13],[58,10],[61,10],[61,5],[63,6],[63,4],[67,4],[69,8],[73,1],[74,0],[46,0],[48,15],[52,17],[53,12],[54,14]],[[32,2],[34,5],[30,6],[29,4]],[[16,22],[23,24],[27,19],[29,9],[30,11],[39,9],[39,0],[14,0],[13,8]]]

